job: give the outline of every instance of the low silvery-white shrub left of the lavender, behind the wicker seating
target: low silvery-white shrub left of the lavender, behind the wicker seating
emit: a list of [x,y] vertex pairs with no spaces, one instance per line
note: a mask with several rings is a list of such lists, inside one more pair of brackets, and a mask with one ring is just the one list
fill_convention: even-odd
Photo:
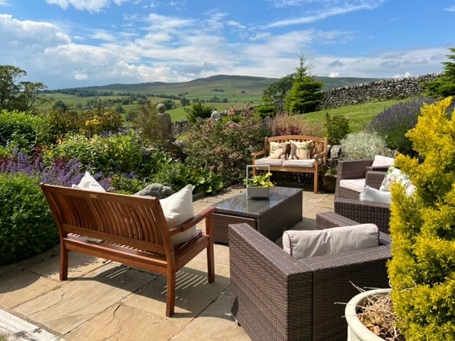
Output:
[[341,140],[341,156],[344,160],[374,158],[375,155],[392,156],[392,151],[377,133],[360,131],[348,134]]

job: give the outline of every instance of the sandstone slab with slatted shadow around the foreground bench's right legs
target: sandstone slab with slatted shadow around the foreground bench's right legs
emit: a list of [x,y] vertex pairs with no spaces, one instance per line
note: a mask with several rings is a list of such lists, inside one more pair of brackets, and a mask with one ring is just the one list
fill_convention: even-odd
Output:
[[215,264],[215,282],[207,281],[207,262],[193,259],[176,274],[175,313],[167,318],[166,276],[160,276],[141,290],[124,298],[122,303],[146,313],[170,319],[179,325],[188,324],[230,284],[229,268]]

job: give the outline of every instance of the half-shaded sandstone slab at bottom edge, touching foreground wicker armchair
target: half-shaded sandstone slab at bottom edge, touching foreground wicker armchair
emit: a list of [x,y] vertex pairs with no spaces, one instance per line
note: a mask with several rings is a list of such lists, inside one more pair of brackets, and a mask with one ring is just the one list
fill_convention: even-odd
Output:
[[173,341],[218,340],[250,341],[247,333],[230,315],[229,290],[223,291],[215,302],[210,304],[198,318],[172,337]]

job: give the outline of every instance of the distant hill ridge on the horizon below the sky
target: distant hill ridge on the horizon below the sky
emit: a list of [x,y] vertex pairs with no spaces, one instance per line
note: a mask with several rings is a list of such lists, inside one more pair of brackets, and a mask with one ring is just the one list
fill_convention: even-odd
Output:
[[[247,92],[250,95],[262,95],[272,82],[277,82],[279,78],[252,77],[252,76],[230,76],[216,75],[207,78],[199,78],[189,82],[166,83],[166,82],[148,82],[138,84],[111,84],[99,87],[84,87],[86,90],[132,92],[140,94],[181,94],[191,93],[207,94],[207,92],[235,93]],[[358,78],[358,77],[318,77],[316,80],[324,83],[323,89],[333,87],[345,87],[360,83],[370,83],[382,80],[382,78]]]

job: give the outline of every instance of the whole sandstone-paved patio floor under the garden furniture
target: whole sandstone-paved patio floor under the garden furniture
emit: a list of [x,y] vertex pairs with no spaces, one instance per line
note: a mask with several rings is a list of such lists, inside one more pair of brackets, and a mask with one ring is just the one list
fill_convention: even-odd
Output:
[[[242,191],[203,197],[195,212]],[[295,228],[314,229],[316,213],[333,210],[333,194],[303,197]],[[0,267],[0,339],[250,340],[230,318],[228,246],[215,245],[215,283],[207,283],[202,253],[178,272],[172,318],[164,314],[163,276],[72,251],[68,281],[58,280],[58,269],[58,248]]]

